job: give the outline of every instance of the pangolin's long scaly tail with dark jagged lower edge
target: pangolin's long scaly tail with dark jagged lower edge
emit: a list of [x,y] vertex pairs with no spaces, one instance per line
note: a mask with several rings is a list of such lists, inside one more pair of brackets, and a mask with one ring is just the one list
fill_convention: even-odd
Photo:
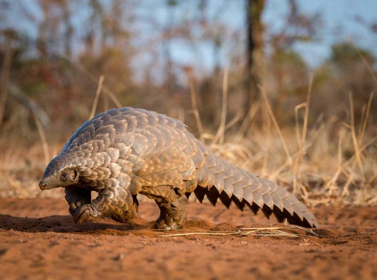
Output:
[[196,169],[198,187],[194,193],[200,201],[207,196],[215,205],[220,198],[227,208],[233,201],[241,210],[248,205],[255,214],[259,209],[267,218],[274,214],[279,222],[287,219],[290,224],[318,227],[314,215],[296,196],[268,179],[206,152],[203,165]]

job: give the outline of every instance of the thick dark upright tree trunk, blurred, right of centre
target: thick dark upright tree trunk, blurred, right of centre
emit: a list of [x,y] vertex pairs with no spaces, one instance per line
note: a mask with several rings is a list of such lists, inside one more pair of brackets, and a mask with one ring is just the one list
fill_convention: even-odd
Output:
[[258,99],[258,84],[262,83],[263,65],[263,24],[262,12],[265,0],[247,0],[247,69],[245,79],[244,112],[249,112],[252,102]]

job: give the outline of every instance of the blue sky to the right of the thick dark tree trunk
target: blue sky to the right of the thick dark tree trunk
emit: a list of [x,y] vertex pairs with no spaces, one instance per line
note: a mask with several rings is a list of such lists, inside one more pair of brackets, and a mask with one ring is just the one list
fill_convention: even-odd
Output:
[[[281,0],[267,2],[264,20],[272,26],[275,18],[286,13],[286,5]],[[347,41],[349,36],[358,46],[377,55],[377,34],[356,20],[361,17],[366,23],[377,23],[377,0],[299,0],[299,3],[305,13],[319,12],[324,23],[318,42],[297,43],[295,46],[309,64],[316,66],[321,63],[330,55],[330,46],[334,42]]]

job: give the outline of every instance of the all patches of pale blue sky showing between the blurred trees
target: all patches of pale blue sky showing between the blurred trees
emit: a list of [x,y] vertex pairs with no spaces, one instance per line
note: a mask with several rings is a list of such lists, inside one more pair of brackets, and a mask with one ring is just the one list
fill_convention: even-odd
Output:
[[[103,3],[108,1],[104,0]],[[148,4],[144,4],[144,3]],[[190,6],[196,1],[186,0],[181,5],[185,6],[181,14],[177,17],[190,17]],[[23,18],[20,6],[23,6],[35,18],[41,18],[41,11],[34,0],[19,0],[12,9],[11,16],[8,16],[8,22],[12,27],[22,30],[31,37],[37,34],[37,26],[30,25]],[[163,1],[144,1],[137,9],[137,16],[153,18],[162,26],[167,21],[167,10],[164,8]],[[161,4],[162,3],[162,4]],[[219,21],[226,24],[229,34],[234,30],[246,30],[245,26],[245,1],[244,0],[209,0],[208,15],[210,18],[217,17]],[[223,5],[226,3],[226,8]],[[323,26],[318,31],[319,40],[308,43],[296,43],[294,49],[298,51],[311,66],[317,66],[323,62],[330,54],[330,47],[335,42],[346,41],[348,36],[357,43],[357,45],[373,52],[377,56],[377,34],[372,33],[365,25],[356,21],[361,17],[366,25],[373,22],[377,23],[377,0],[298,0],[299,9],[307,14],[320,13],[322,16]],[[221,11],[221,13],[219,13]],[[284,17],[288,12],[287,0],[266,0],[266,7],[263,14],[263,21],[266,25],[266,38],[268,33],[274,32],[281,28]],[[75,8],[73,23],[78,29],[80,28],[83,18],[89,16],[89,9],[86,6],[77,6]],[[144,27],[143,27],[144,26]],[[153,26],[144,25],[139,20],[139,27],[143,36],[153,36],[157,30]],[[143,30],[144,28],[144,30]],[[245,38],[243,38],[245,39]],[[75,46],[80,48],[80,34],[76,34]],[[137,42],[135,43],[137,45]],[[243,42],[239,42],[243,44]],[[241,46],[225,46],[221,50],[221,56],[224,60],[231,48],[240,48]],[[195,52],[187,43],[176,40],[171,45],[172,57],[182,64],[195,64],[201,68],[210,70],[213,65],[212,47],[201,42],[196,46]],[[230,50],[229,50],[230,49]],[[139,59],[153,59],[153,55],[147,54]],[[224,62],[224,61],[223,61]]]

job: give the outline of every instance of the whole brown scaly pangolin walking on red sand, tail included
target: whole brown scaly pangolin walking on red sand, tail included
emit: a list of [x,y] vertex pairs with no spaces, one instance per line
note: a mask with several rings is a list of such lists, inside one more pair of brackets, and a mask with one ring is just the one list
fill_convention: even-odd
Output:
[[[123,223],[137,215],[137,194],[156,201],[157,228],[181,228],[184,196],[194,193],[215,205],[247,205],[279,222],[317,227],[296,196],[274,182],[211,153],[174,118],[142,109],[112,109],[86,121],[51,160],[42,190],[65,188],[77,224],[111,217]],[[91,191],[98,193],[92,200]]]

